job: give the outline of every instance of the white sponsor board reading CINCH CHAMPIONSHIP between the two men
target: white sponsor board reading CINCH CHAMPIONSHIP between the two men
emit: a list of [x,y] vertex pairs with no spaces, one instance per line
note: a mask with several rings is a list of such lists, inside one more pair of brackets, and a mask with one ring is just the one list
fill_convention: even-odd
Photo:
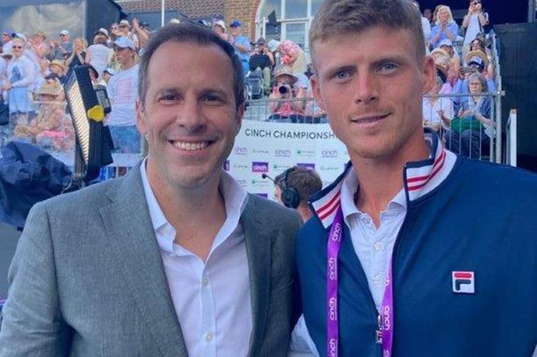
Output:
[[243,121],[224,169],[246,191],[273,198],[274,185],[262,174],[274,178],[291,166],[304,166],[314,169],[326,186],[343,172],[348,159],[328,124]]

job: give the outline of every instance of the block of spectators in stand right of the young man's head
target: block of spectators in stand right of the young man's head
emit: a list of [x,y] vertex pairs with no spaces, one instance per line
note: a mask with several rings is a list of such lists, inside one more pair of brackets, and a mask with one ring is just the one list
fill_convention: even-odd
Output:
[[422,14],[426,51],[437,68],[436,86],[423,100],[423,125],[438,131],[451,151],[476,159],[488,156],[495,133],[496,71],[487,25],[481,0],[469,1],[460,24],[446,5]]

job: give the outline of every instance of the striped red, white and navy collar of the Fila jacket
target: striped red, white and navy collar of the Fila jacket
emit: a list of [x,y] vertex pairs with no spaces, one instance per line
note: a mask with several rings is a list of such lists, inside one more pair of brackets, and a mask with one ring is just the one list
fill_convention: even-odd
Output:
[[[438,135],[425,131],[424,136],[431,155],[425,160],[408,162],[403,168],[407,202],[415,201],[438,187],[451,172],[456,161],[456,155],[444,149]],[[311,197],[311,207],[325,228],[331,226],[336,216],[337,208],[341,204],[341,186],[346,175],[352,171],[351,166],[349,161],[336,181]]]

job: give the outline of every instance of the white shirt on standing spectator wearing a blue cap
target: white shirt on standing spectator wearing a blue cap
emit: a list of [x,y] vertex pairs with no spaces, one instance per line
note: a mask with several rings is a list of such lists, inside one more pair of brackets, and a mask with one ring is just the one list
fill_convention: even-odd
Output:
[[136,125],[136,96],[138,91],[138,69],[135,64],[130,69],[121,70],[106,86],[112,111],[106,119],[108,126]]

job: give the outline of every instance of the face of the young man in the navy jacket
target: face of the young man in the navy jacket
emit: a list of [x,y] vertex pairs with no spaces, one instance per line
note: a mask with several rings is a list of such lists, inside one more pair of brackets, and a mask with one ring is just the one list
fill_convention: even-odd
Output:
[[423,145],[421,94],[436,71],[416,46],[411,31],[379,26],[313,44],[313,96],[351,159],[408,159]]

